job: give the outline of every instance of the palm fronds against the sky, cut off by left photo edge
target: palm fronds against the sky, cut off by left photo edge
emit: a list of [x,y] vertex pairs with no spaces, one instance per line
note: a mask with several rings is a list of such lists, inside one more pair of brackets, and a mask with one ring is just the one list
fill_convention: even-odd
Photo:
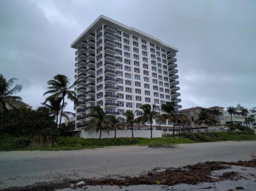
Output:
[[0,111],[7,110],[7,107],[17,107],[23,105],[22,98],[13,96],[14,94],[22,90],[22,85],[16,84],[12,89],[11,86],[16,78],[6,80],[2,74],[0,74]]

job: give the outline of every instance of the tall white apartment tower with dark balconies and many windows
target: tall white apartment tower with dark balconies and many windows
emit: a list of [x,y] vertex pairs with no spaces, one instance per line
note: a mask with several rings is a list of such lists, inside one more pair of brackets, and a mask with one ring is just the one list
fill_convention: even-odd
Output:
[[161,104],[174,101],[181,108],[177,48],[103,15],[71,47],[77,50],[76,128],[91,119],[90,108],[96,105],[120,121],[126,110],[139,110],[143,104],[160,111]]

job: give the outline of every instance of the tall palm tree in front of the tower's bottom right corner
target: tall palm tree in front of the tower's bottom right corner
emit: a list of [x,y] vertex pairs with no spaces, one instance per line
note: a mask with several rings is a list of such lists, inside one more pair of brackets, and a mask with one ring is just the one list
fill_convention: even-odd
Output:
[[161,105],[161,109],[164,112],[161,115],[162,121],[168,120],[173,123],[173,136],[175,135],[175,123],[177,122],[177,114],[175,113],[175,103],[174,102],[166,102]]

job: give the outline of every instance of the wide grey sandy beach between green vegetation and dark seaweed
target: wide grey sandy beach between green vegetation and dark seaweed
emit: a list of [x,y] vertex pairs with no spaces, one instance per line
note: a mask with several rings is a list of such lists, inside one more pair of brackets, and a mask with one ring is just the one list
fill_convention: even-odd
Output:
[[0,188],[63,178],[133,176],[155,167],[250,160],[255,155],[256,141],[182,144],[173,149],[124,146],[77,151],[0,152]]

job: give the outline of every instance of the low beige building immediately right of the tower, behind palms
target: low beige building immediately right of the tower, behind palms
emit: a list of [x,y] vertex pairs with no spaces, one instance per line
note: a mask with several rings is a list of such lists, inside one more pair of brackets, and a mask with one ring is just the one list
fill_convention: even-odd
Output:
[[[212,114],[213,110],[217,109],[219,110],[222,114],[215,116]],[[224,107],[219,107],[219,106],[214,106],[214,107],[209,107],[209,108],[204,108],[204,107],[191,107],[188,109],[182,109],[180,110],[181,113],[187,115],[187,118],[190,120],[190,124],[185,124],[185,127],[189,128],[198,128],[198,127],[204,127],[204,124],[196,124],[195,121],[198,119],[198,115],[202,110],[206,110],[210,113],[212,117],[214,117],[217,121],[217,123],[213,126],[215,127],[224,127],[225,126],[225,118],[224,118]]]

